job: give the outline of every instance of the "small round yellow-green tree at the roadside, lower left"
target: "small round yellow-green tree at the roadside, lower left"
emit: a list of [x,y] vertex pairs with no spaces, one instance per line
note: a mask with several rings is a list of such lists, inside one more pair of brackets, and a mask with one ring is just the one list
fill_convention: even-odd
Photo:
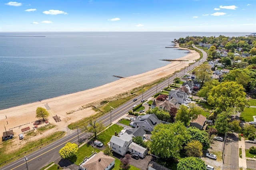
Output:
[[78,152],[78,146],[75,143],[67,142],[63,148],[59,150],[60,157],[63,159],[70,158],[76,155]]

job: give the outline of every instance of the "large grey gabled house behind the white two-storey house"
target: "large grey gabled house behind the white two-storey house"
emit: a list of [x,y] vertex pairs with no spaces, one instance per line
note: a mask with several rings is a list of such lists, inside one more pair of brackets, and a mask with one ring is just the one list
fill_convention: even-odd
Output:
[[133,122],[134,126],[142,127],[145,131],[152,132],[154,127],[162,123],[155,114],[139,116]]

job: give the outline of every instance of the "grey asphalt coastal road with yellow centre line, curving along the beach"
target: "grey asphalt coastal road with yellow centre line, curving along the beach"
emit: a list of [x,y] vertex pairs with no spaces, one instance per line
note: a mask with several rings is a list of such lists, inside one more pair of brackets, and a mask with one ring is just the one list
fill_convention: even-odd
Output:
[[[159,83],[158,85],[148,89],[143,93],[143,99],[148,99],[152,97],[154,94],[158,93],[161,91],[163,88],[167,87],[168,84],[173,83],[173,80],[175,77],[183,77],[186,75],[186,73],[192,71],[195,67],[198,65],[204,63],[207,59],[207,54],[205,51],[199,49],[203,53],[202,59],[200,61],[197,61],[193,63],[192,65],[185,67],[178,73],[174,74],[173,76],[169,77],[168,79],[164,80],[163,82]],[[97,121],[101,121],[104,123],[105,126],[110,125],[110,121],[118,120],[121,117],[123,117],[128,111],[132,110],[133,105],[138,105],[140,104],[140,101],[142,100],[142,94],[136,96],[136,99],[138,99],[136,102],[131,99],[130,101],[124,103],[120,107],[113,109],[111,113],[106,113]],[[110,115],[111,114],[111,115]],[[110,119],[111,117],[111,119]],[[78,130],[78,131],[77,131]],[[36,150],[35,152],[31,154],[27,154],[26,158],[27,160],[27,166],[29,170],[39,170],[43,166],[46,166],[47,164],[50,164],[51,162],[54,162],[56,160],[60,159],[60,156],[58,154],[58,151],[60,148],[62,148],[66,142],[74,142],[78,144],[78,133],[79,133],[79,138],[88,138],[88,134],[85,133],[83,130],[80,129],[75,129],[75,130],[68,130],[67,134],[65,137],[60,138],[59,140],[56,140],[55,142],[49,144],[48,146],[45,146],[43,148],[40,148],[39,150]],[[10,169],[15,169],[15,170],[26,170],[27,169],[26,162],[24,160],[24,157],[6,165],[0,168],[0,170],[10,170]]]

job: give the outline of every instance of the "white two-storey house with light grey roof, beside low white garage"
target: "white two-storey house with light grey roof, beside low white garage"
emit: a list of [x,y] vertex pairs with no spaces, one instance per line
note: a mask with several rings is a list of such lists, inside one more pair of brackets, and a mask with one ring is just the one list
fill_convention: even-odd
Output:
[[124,133],[122,136],[117,137],[117,136],[112,136],[110,139],[110,148],[114,152],[124,156],[128,150],[128,145],[132,143],[132,137]]

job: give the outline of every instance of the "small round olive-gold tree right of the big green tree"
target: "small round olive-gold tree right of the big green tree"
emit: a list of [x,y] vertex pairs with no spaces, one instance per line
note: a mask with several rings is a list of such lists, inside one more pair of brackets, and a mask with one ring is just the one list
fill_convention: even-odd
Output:
[[184,147],[188,156],[200,157],[203,155],[203,145],[198,140],[192,140]]

